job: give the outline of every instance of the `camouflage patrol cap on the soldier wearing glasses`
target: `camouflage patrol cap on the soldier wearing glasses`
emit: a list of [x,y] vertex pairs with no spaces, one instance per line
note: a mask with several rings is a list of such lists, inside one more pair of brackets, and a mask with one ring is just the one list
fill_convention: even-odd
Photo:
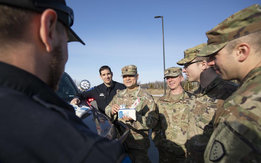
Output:
[[184,51],[184,58],[177,62],[178,65],[184,65],[184,63],[189,63],[195,59],[204,46],[206,46],[207,43],[199,44],[193,48],[189,48]]

